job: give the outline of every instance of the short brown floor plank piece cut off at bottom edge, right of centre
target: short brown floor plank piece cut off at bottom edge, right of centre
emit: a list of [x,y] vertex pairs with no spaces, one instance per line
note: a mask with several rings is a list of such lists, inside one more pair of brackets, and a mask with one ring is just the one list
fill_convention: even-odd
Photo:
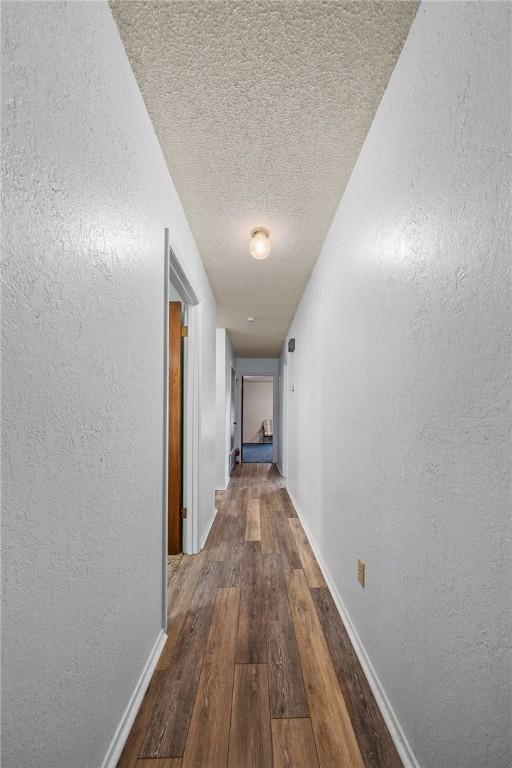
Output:
[[311,720],[272,720],[274,768],[318,768]]

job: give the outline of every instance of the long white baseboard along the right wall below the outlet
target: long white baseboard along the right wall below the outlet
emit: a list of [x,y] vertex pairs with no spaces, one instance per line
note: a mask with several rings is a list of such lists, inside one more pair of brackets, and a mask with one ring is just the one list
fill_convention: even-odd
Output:
[[377,676],[377,673],[373,667],[373,664],[370,661],[370,658],[366,652],[366,649],[363,643],[361,642],[361,638],[357,633],[354,623],[352,622],[352,619],[350,618],[350,615],[347,609],[345,608],[345,605],[343,604],[341,595],[338,592],[336,585],[334,584],[334,581],[331,577],[331,574],[329,573],[329,569],[327,568],[324,562],[324,559],[322,558],[322,555],[320,554],[318,545],[316,544],[314,538],[311,535],[311,531],[309,529],[308,524],[304,520],[304,516],[302,515],[299,509],[299,505],[297,504],[297,500],[295,499],[293,493],[291,492],[290,488],[288,488],[288,486],[286,487],[286,490],[290,495],[290,499],[292,500],[293,506],[295,507],[297,515],[299,516],[302,526],[306,532],[306,535],[309,539],[309,543],[311,544],[311,548],[315,553],[316,559],[318,560],[318,564],[324,575],[325,581],[327,582],[327,586],[331,591],[331,595],[333,597],[336,608],[338,609],[338,613],[341,616],[341,619],[348,632],[352,645],[354,646],[354,650],[356,652],[357,658],[359,659],[359,662],[363,668],[363,672],[366,675],[366,679],[368,680],[370,688],[372,689],[372,693],[375,696],[375,701],[377,702],[377,706],[380,709],[382,717],[384,718],[384,722],[388,727],[393,743],[397,749],[398,754],[400,755],[400,759],[404,764],[404,768],[421,768],[420,764],[416,759],[414,752],[412,751],[412,748],[409,742],[407,741],[405,733],[402,730],[402,726],[400,725],[400,722],[395,714],[395,711],[391,706],[391,702],[389,701],[386,695],[386,692],[382,686],[381,681],[379,680],[379,677]]

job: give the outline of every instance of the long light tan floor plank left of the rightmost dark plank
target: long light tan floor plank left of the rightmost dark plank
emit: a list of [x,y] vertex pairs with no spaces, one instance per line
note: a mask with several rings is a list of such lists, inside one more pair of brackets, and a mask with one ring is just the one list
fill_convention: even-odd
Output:
[[364,768],[304,572],[286,576],[319,766]]

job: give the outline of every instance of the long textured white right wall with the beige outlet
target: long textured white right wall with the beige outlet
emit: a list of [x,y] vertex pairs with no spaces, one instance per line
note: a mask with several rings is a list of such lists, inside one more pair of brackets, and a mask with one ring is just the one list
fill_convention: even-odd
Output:
[[422,768],[511,759],[509,11],[420,6],[289,332],[288,485]]

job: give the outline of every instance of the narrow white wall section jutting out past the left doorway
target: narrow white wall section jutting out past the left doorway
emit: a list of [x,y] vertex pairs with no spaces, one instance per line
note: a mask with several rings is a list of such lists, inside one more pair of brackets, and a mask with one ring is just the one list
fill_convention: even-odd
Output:
[[229,483],[231,369],[235,365],[233,348],[225,328],[217,328],[216,356],[215,488],[222,491]]

